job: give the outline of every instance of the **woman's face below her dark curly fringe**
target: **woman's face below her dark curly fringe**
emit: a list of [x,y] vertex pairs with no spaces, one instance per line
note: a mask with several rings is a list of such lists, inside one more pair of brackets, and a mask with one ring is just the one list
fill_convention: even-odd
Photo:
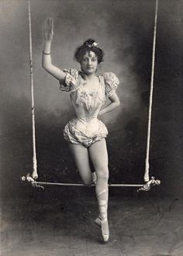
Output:
[[87,51],[81,59],[81,71],[85,74],[94,74],[97,70],[98,59],[93,51]]

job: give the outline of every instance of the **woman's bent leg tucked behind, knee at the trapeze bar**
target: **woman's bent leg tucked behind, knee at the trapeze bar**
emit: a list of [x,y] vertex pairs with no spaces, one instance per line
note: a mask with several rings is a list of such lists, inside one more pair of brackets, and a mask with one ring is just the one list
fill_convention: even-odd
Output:
[[69,148],[74,157],[75,164],[85,185],[91,185],[92,175],[89,164],[88,148],[80,144],[69,143]]

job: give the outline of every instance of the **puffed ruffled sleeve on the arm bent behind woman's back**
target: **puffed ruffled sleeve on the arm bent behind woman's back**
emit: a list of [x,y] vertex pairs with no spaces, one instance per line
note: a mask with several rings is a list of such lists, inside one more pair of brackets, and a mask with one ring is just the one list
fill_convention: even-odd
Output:
[[116,92],[116,88],[119,85],[119,79],[116,77],[116,74],[112,72],[104,73],[103,78],[105,81],[105,95],[110,97],[113,92]]

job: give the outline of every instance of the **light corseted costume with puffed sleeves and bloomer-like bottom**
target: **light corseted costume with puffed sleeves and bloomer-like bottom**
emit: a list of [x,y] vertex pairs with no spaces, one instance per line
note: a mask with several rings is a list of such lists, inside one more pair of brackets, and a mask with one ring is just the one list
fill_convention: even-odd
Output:
[[85,92],[85,74],[70,68],[64,70],[66,78],[60,82],[60,90],[71,92],[71,102],[74,106],[75,117],[64,128],[64,139],[72,144],[82,144],[90,147],[95,141],[102,140],[108,134],[104,123],[97,118],[98,112],[119,85],[119,79],[112,72],[98,76],[97,91]]

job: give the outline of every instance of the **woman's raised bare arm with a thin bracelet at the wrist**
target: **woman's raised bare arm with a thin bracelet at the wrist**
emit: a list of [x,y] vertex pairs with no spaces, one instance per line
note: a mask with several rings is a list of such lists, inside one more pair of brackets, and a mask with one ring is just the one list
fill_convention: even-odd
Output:
[[47,19],[47,25],[44,29],[43,38],[44,38],[44,45],[43,45],[43,56],[42,56],[42,67],[54,78],[63,82],[65,80],[66,74],[64,71],[60,70],[60,68],[55,67],[51,62],[51,43],[54,36],[54,21],[52,18]]

